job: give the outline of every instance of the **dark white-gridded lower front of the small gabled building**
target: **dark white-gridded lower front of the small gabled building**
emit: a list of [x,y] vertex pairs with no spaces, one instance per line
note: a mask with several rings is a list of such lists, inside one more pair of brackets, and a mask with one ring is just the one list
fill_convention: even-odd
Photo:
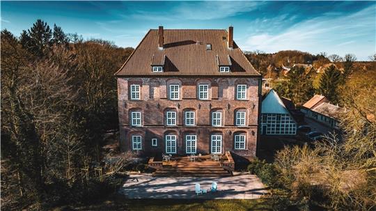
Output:
[[262,134],[296,134],[297,125],[288,114],[263,114]]

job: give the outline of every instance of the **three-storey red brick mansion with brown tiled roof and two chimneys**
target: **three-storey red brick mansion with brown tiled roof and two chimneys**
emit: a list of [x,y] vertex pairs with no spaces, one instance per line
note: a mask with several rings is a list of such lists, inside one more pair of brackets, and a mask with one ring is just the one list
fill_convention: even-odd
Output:
[[232,26],[150,29],[115,75],[123,151],[256,155],[261,75]]

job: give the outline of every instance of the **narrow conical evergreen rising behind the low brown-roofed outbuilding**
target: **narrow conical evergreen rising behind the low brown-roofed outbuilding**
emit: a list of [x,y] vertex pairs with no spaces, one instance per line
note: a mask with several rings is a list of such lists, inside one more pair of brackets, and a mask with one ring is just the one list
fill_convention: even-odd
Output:
[[335,65],[329,66],[322,74],[319,82],[319,91],[331,102],[338,102],[338,87],[342,81],[342,75]]

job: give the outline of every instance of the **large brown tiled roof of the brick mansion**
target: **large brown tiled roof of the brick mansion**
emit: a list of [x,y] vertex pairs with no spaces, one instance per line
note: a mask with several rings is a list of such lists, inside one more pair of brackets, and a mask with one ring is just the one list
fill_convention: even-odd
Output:
[[[260,76],[234,42],[227,46],[227,31],[217,29],[164,29],[164,47],[158,47],[158,30],[150,29],[116,76]],[[207,50],[206,44],[212,49]],[[164,72],[152,72],[164,65]],[[219,72],[230,65],[230,72]]]

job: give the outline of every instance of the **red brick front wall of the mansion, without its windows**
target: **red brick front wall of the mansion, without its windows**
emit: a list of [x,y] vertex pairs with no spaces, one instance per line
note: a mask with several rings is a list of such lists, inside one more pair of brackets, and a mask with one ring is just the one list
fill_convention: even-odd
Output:
[[[180,84],[180,100],[168,100],[168,85]],[[207,83],[210,87],[210,100],[197,100],[197,84]],[[128,100],[130,84],[141,85],[141,100]],[[236,84],[247,84],[247,100],[235,100]],[[141,155],[165,152],[164,135],[178,136],[177,153],[185,154],[185,134],[197,135],[197,153],[210,153],[210,134],[223,135],[222,153],[233,151],[242,156],[256,156],[258,132],[259,92],[258,78],[118,78],[118,111],[120,125],[120,146],[122,150],[132,150],[132,134],[142,136]],[[128,118],[131,109],[141,109],[142,127],[132,127]],[[178,125],[165,126],[166,109],[178,111]],[[196,126],[184,125],[184,109],[196,111]],[[221,109],[224,127],[211,126],[212,109]],[[246,110],[246,126],[235,126],[234,115],[237,109]],[[237,132],[246,134],[246,150],[234,150],[233,136]],[[151,139],[158,139],[158,146],[151,146]],[[150,155],[151,156],[151,155]]]

